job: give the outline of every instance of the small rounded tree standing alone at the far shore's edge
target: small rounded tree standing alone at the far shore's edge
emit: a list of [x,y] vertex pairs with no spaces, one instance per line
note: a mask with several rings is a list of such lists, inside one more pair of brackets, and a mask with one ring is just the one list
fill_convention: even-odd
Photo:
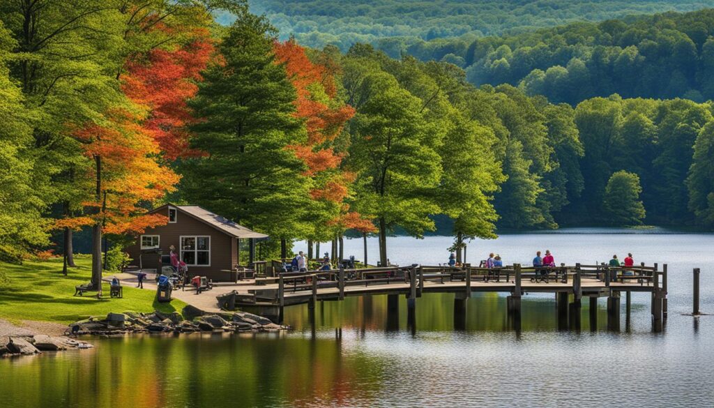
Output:
[[615,171],[605,186],[603,209],[610,224],[616,226],[641,225],[645,206],[640,201],[640,177],[634,173]]

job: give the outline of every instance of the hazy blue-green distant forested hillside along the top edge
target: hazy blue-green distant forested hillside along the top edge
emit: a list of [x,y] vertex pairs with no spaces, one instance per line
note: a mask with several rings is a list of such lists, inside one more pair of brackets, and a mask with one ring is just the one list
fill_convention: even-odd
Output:
[[[251,10],[266,14],[282,39],[294,35],[313,48],[355,43],[391,50],[420,41],[531,31],[573,21],[602,21],[630,14],[692,11],[710,0],[255,0]],[[228,19],[223,16],[222,21]]]

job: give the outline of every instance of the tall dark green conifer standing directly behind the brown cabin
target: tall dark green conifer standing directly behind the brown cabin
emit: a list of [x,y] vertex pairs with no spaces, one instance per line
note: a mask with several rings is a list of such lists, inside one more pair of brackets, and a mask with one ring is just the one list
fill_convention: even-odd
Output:
[[306,143],[307,134],[274,41],[268,22],[247,12],[226,31],[220,58],[188,102],[200,119],[190,145],[201,156],[181,170],[187,199],[281,239],[284,249],[287,239],[304,235],[311,183],[289,148]]

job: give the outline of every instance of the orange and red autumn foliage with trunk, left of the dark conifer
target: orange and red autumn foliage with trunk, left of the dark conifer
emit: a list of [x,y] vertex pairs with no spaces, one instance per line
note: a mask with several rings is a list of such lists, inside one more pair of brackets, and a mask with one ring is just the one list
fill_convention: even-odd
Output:
[[[94,161],[84,189],[92,198],[84,202],[83,216],[58,225],[91,225],[95,287],[101,281],[102,235],[141,234],[165,224],[166,217],[147,214],[146,207],[175,191],[179,176],[167,160],[191,154],[183,131],[191,121],[186,100],[196,94],[199,72],[213,52],[208,19],[198,15],[187,24],[183,24],[186,20],[165,24],[168,20],[161,13],[147,9],[140,26],[134,27],[135,36],[125,36],[127,41],[136,36],[153,41],[138,41],[120,61],[121,96],[103,117],[74,131],[84,154]],[[160,45],[144,48],[144,44]]]

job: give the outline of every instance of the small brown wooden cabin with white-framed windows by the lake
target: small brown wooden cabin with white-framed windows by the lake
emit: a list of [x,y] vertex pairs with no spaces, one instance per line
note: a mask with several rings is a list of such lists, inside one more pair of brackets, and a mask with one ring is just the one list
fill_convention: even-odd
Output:
[[169,222],[146,229],[126,249],[132,264],[141,269],[161,270],[162,266],[169,265],[169,247],[174,245],[188,266],[189,276],[201,275],[214,282],[225,282],[231,280],[231,274],[223,271],[240,264],[240,240],[248,239],[253,249],[256,240],[268,237],[195,205],[165,204],[149,212],[156,213],[166,214]]

